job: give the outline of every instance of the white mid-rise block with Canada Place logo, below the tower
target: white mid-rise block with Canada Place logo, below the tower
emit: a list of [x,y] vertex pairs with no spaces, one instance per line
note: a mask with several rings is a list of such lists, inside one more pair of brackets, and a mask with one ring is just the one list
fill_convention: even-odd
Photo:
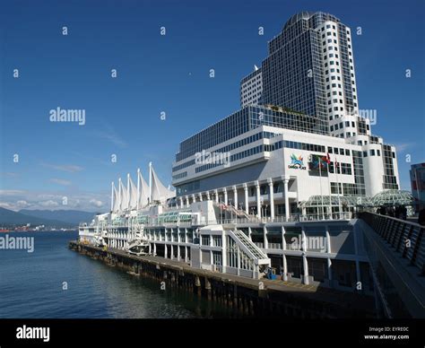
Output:
[[214,199],[259,217],[303,213],[299,203],[310,196],[398,188],[395,147],[382,138],[326,135],[315,117],[264,106],[247,106],[186,139],[177,157],[178,204]]

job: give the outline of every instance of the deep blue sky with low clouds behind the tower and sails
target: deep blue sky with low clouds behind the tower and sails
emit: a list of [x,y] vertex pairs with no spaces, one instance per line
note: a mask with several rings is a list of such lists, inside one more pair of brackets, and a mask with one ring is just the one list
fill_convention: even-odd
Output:
[[[398,146],[403,188],[405,156],[425,161],[421,0],[0,4],[0,206],[107,210],[110,181],[146,177],[149,161],[169,184],[179,142],[239,109],[240,79],[303,10],[351,27],[360,109],[377,109],[372,132]],[[57,107],[85,109],[86,124],[49,122]]]

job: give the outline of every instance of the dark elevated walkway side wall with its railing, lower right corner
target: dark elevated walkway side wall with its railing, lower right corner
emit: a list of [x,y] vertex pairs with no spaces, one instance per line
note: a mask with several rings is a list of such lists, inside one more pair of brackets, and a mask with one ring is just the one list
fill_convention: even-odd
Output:
[[425,226],[377,213],[359,218],[378,315],[425,318]]

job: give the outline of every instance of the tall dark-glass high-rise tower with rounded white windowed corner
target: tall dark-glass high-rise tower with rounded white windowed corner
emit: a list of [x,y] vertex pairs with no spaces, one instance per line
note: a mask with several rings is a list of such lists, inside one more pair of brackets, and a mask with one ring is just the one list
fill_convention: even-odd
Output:
[[256,75],[261,78],[261,98],[241,97],[243,105],[263,103],[300,111],[327,121],[336,136],[359,133],[351,30],[334,15],[293,15],[269,41],[268,57]]

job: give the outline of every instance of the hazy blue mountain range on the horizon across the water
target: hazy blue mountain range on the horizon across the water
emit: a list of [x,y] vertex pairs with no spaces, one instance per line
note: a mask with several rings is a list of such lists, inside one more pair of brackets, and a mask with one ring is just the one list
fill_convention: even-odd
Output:
[[55,228],[73,228],[80,222],[91,222],[95,213],[81,212],[77,210],[28,210],[19,212],[0,207],[0,227],[11,225],[32,226],[45,225]]

